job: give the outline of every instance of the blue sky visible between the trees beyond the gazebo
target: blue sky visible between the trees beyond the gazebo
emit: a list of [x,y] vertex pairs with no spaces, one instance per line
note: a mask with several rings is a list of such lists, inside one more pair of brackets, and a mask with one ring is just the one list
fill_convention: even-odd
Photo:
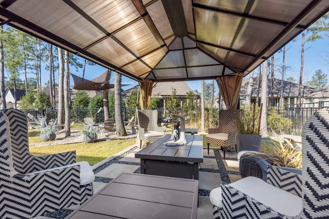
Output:
[[[316,72],[316,70],[321,69],[323,73],[329,75],[329,37],[324,36],[322,39],[317,39],[314,42],[306,42],[304,46],[304,70],[303,70],[303,83],[310,81],[312,79],[312,75]],[[305,41],[308,36],[305,36]],[[292,76],[296,79],[296,82],[299,82],[299,73],[300,73],[300,65],[301,65],[301,35],[296,37],[294,42],[290,42],[286,45],[286,54],[285,54],[285,66],[288,69],[285,72],[285,78]],[[327,61],[325,61],[325,59]],[[83,63],[84,59],[81,58],[81,63]],[[280,68],[282,65],[282,52],[275,53],[275,68]],[[70,72],[72,74],[76,74],[78,76],[82,76],[82,69],[76,71],[75,68],[70,68]],[[104,73],[106,69],[102,66],[86,66],[85,69],[85,78],[86,79],[94,79],[97,76]],[[43,72],[47,72],[47,70],[43,70]],[[48,75],[48,74],[44,74]],[[257,73],[254,74],[254,76]],[[48,77],[48,76],[46,76]],[[45,82],[48,81],[48,78],[45,78]],[[246,77],[249,77],[248,75]],[[281,78],[281,73],[276,74],[277,78]],[[57,80],[57,78],[56,78]],[[73,84],[73,79],[70,77],[70,82]],[[211,81],[205,81],[206,83],[211,83]],[[110,83],[114,84],[114,73],[111,74]],[[126,90],[131,87],[137,86],[137,81],[134,81],[131,78],[122,76],[122,84],[127,84],[128,86],[122,87],[122,89]],[[201,81],[188,81],[187,84],[190,86],[192,90],[201,90]],[[218,93],[218,87],[215,83],[215,93]]]

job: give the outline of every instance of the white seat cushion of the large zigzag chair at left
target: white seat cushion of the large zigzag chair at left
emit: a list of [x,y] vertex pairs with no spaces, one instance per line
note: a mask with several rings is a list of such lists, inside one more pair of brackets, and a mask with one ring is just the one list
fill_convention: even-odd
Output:
[[48,171],[53,171],[53,170],[58,170],[58,169],[63,169],[67,167],[72,167],[72,166],[80,166],[80,185],[87,185],[89,183],[92,183],[95,180],[95,174],[93,172],[92,167],[90,167],[89,163],[86,161],[81,161],[78,163],[62,166],[62,167],[54,167],[51,169],[46,169],[46,170],[40,170],[40,171],[35,171],[31,172],[29,174],[35,174],[35,173],[44,173]]

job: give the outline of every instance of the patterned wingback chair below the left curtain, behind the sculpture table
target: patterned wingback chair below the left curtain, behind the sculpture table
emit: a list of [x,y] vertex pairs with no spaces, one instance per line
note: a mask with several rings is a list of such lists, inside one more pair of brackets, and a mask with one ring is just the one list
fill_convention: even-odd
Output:
[[138,110],[137,115],[139,148],[142,147],[142,141],[148,145],[166,134],[166,126],[158,126],[157,110]]

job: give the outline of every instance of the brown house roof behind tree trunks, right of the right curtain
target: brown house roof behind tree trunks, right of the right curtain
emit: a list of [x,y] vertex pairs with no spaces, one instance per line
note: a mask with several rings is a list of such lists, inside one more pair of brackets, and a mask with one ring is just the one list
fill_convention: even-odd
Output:
[[[242,86],[241,86],[241,91],[240,91],[240,98],[245,99],[246,98],[246,92],[247,92],[247,86],[248,86],[248,80],[249,78],[243,78]],[[268,96],[271,95],[271,79],[268,79],[267,82],[267,92]],[[257,96],[257,88],[256,88],[256,81],[257,78],[253,78],[253,85],[252,85],[252,90],[251,90],[251,97],[256,97]],[[262,91],[262,85],[261,82],[259,82],[260,85],[260,92],[259,96],[261,96],[261,91]],[[275,97],[280,97],[280,86],[281,86],[281,79],[274,78],[274,96]],[[283,97],[298,97],[298,89],[299,89],[299,84],[296,84],[294,82],[288,82],[284,81],[283,82]],[[302,88],[302,97],[306,97],[310,92],[314,91],[314,88],[303,86]]]

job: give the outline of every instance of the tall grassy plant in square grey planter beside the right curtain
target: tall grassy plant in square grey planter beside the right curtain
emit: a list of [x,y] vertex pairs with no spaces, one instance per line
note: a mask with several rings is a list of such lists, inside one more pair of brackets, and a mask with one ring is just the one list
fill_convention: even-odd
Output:
[[236,152],[260,151],[262,136],[260,133],[261,108],[251,105],[237,117]]

